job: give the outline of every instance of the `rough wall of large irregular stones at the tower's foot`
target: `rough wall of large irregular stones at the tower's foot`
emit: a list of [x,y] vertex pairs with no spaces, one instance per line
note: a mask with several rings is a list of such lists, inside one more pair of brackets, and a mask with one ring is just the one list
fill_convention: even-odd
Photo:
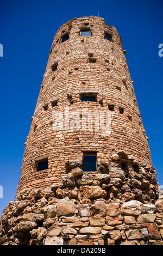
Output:
[[[83,186],[90,189],[90,186]],[[163,200],[143,204],[138,200],[105,200],[105,193],[78,202],[60,198],[61,184],[30,194],[25,191],[10,202],[1,217],[1,245],[142,245],[163,244]],[[58,191],[58,192],[57,192]],[[83,190],[82,190],[83,191]],[[96,191],[96,193],[95,193]],[[89,190],[91,194],[92,191]],[[62,194],[63,196],[64,194]]]

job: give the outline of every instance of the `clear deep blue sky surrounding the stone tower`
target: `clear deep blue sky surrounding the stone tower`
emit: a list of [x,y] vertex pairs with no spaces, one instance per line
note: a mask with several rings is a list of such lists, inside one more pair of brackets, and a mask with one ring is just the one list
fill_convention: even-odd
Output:
[[0,214],[15,199],[24,142],[30,129],[48,53],[58,28],[74,17],[95,15],[115,26],[122,38],[131,80],[149,137],[153,166],[162,169],[162,0],[0,0],[1,152]]

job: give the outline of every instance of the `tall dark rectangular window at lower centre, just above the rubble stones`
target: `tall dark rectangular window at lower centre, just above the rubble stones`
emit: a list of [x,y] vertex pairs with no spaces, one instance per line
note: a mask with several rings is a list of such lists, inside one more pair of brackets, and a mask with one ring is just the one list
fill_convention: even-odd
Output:
[[83,156],[83,172],[96,172],[96,155]]

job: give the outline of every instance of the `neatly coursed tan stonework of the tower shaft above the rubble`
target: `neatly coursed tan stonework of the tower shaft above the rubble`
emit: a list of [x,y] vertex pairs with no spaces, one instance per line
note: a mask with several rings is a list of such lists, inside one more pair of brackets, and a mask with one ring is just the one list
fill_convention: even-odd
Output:
[[[90,29],[92,35],[80,36],[81,29]],[[104,38],[105,32],[111,34],[111,41]],[[69,39],[61,42],[62,35],[66,33]],[[95,58],[96,62],[90,62],[90,58]],[[57,70],[54,70],[53,65],[56,64]],[[96,95],[97,102],[80,101],[81,94],[88,92]],[[114,111],[109,111],[108,105],[114,106]],[[120,108],[124,110],[123,114]],[[75,129],[73,113],[84,116],[88,111],[94,114],[109,112],[110,135],[103,136],[101,127],[95,129],[92,125],[89,129],[88,117],[86,130],[82,125]],[[55,129],[54,113],[58,112],[63,113],[64,127]],[[124,150],[152,166],[120,35],[101,17],[73,19],[55,34],[32,125],[24,144],[26,148],[17,192],[60,182],[61,175],[66,172],[65,162],[69,159],[82,161],[85,151],[96,151],[97,162],[106,162],[109,167],[113,164],[112,153],[118,150]],[[37,161],[45,157],[48,169],[37,172]]]

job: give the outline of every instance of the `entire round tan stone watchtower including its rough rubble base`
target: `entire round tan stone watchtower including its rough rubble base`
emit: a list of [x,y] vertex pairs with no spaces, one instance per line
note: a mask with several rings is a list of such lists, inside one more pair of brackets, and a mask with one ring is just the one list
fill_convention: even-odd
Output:
[[[1,243],[161,242],[162,201],[125,53],[101,17],[55,34]],[[11,219],[15,237],[4,231]]]

